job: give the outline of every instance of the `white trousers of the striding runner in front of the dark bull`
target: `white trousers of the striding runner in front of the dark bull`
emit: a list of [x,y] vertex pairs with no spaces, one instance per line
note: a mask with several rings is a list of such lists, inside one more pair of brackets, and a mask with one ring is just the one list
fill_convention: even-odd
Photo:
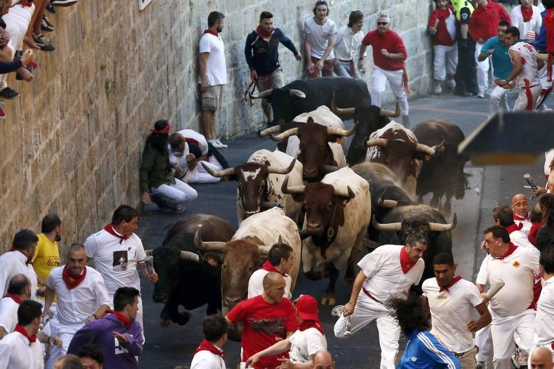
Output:
[[[362,291],[358,295],[354,312],[350,315],[350,332],[354,334],[374,320],[377,320],[379,346],[381,346],[379,369],[394,369],[394,361],[398,353],[398,339],[400,339],[400,326],[384,305],[373,301]],[[337,323],[334,323],[334,337],[346,338],[344,335],[345,321],[346,318],[341,316]]]

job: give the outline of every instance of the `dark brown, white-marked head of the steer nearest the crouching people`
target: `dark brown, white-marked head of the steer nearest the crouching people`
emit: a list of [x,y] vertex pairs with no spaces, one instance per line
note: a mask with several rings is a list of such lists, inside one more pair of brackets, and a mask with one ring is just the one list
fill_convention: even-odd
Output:
[[264,201],[267,198],[267,177],[269,174],[287,174],[292,171],[294,164],[296,164],[296,159],[292,160],[290,165],[285,168],[271,166],[269,162],[265,162],[265,164],[247,162],[222,171],[214,171],[204,163],[202,166],[214,177],[228,176],[237,180],[239,198],[242,202],[242,209],[244,209],[244,219],[246,219],[252,214],[278,205]]

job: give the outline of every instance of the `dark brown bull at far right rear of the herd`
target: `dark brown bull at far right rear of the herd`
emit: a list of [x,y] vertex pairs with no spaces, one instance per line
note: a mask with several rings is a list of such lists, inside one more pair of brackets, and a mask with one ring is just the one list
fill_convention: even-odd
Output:
[[[458,154],[458,144],[465,136],[461,129],[447,120],[427,120],[413,127],[413,134],[418,142],[429,146],[438,145],[438,150],[431,160],[421,167],[415,194],[422,202],[422,197],[433,193],[430,206],[450,215],[452,196],[461,199],[465,195],[467,178],[463,172],[467,155]],[[445,201],[441,202],[441,198]]]

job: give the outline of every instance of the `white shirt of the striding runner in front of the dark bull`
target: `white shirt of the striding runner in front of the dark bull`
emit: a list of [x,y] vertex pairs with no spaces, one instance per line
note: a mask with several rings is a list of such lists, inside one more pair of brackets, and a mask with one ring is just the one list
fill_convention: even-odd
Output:
[[[358,263],[366,276],[364,288],[381,303],[389,297],[405,299],[411,285],[420,283],[425,262],[422,258],[418,259],[404,274],[400,265],[400,251],[403,248],[402,245],[382,245]],[[365,296],[364,291],[360,294]]]

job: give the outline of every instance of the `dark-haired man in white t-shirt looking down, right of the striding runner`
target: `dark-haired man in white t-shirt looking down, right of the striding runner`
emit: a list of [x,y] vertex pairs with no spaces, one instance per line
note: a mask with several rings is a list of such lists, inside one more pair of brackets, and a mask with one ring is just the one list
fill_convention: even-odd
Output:
[[[491,321],[487,303],[477,287],[454,276],[457,265],[451,254],[440,253],[433,259],[436,278],[422,284],[424,310],[431,313],[431,333],[460,361],[462,369],[474,369],[477,347],[472,337]],[[472,312],[479,312],[479,319],[472,320]]]

